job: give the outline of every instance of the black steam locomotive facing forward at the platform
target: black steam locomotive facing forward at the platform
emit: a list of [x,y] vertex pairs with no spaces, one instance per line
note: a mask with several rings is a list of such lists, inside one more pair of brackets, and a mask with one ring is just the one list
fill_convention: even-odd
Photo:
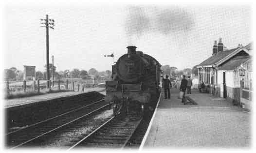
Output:
[[161,64],[153,57],[128,46],[128,53],[112,65],[112,81],[106,81],[105,101],[114,114],[144,113],[156,104],[160,94]]

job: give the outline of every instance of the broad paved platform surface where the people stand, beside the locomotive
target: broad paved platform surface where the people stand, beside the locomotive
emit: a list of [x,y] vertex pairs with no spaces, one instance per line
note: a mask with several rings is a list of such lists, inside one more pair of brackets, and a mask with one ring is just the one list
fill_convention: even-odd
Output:
[[143,149],[251,146],[250,113],[225,99],[191,93],[198,105],[182,105],[177,89],[171,90],[171,99],[160,101]]

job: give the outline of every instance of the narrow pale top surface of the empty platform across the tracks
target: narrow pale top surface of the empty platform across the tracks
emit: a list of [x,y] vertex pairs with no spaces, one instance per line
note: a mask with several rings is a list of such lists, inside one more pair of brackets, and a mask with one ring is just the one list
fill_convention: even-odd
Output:
[[50,99],[55,99],[55,98],[59,98],[59,97],[72,96],[72,95],[81,94],[81,93],[85,93],[85,92],[92,92],[92,91],[102,92],[103,90],[104,90],[104,88],[87,88],[84,90],[84,92],[57,92],[57,93],[35,95],[35,96],[31,96],[31,97],[5,99],[4,107],[14,107],[14,106],[18,106],[18,105],[36,103],[36,102],[40,102],[43,100],[50,100]]

